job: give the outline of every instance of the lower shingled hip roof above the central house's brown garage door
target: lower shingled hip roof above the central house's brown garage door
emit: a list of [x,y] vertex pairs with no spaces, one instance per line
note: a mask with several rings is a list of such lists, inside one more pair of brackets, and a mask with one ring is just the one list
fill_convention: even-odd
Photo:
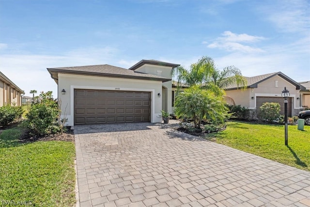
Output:
[[56,81],[56,83],[58,83],[59,73],[156,80],[156,81],[162,81],[162,82],[171,80],[169,78],[165,78],[162,76],[140,73],[134,70],[128,70],[125,68],[120,68],[120,67],[107,65],[107,64],[78,66],[78,67],[47,68],[47,71],[51,74],[51,77]]

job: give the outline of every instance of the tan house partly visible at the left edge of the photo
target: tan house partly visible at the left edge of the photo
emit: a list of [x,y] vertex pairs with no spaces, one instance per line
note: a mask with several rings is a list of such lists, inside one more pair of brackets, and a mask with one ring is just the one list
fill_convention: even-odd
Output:
[[8,77],[0,72],[0,106],[7,103],[21,105],[21,95],[24,91],[18,88]]

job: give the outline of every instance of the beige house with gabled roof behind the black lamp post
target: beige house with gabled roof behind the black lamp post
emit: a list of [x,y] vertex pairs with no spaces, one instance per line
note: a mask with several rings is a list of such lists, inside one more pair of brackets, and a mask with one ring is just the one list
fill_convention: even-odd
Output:
[[247,89],[237,89],[236,86],[225,89],[226,95],[233,98],[236,105],[245,106],[252,111],[256,111],[265,102],[275,102],[280,104],[280,114],[284,115],[284,99],[281,94],[284,87],[286,87],[290,91],[288,116],[296,116],[303,109],[303,94],[309,93],[309,90],[287,75],[277,72],[246,78],[248,81]]

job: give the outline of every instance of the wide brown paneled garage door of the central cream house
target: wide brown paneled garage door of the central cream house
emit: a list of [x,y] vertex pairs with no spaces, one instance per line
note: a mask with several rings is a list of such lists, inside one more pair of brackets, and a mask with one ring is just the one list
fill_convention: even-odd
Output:
[[151,120],[151,93],[74,90],[74,123],[124,123]]

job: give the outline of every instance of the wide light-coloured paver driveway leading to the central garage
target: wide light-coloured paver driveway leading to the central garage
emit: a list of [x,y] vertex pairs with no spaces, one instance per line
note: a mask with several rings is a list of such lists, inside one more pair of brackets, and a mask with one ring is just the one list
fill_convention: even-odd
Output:
[[310,173],[151,123],[75,127],[79,204],[310,206]]

